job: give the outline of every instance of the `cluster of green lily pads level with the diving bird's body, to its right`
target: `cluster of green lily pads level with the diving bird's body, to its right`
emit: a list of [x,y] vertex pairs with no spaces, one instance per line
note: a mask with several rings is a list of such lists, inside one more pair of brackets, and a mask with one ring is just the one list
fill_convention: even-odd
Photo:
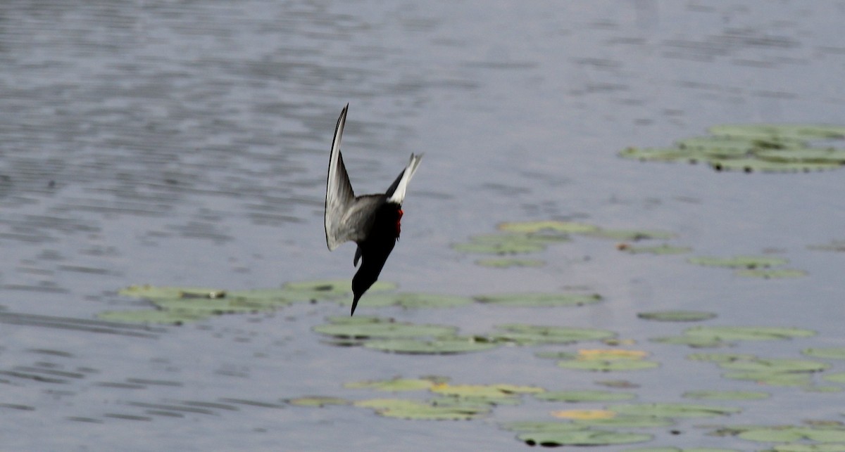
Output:
[[[495,255],[478,259],[477,265],[508,268],[512,266],[543,266],[541,259],[514,257],[545,250],[548,245],[564,243],[572,235],[615,239],[636,242],[644,239],[671,239],[675,234],[661,230],[646,229],[604,229],[589,223],[543,220],[528,222],[499,223],[499,233],[479,234],[469,241],[452,244],[452,249],[462,253]],[[625,245],[631,253],[678,254],[689,252],[689,248],[672,245],[633,246]]]

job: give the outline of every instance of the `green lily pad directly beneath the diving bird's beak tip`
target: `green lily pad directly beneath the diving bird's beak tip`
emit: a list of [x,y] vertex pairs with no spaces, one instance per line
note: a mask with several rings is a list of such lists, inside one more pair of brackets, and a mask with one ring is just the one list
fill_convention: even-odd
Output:
[[392,319],[355,323],[330,323],[313,327],[313,331],[328,336],[342,338],[397,338],[418,336],[452,336],[457,331],[455,326],[418,325],[395,322]]

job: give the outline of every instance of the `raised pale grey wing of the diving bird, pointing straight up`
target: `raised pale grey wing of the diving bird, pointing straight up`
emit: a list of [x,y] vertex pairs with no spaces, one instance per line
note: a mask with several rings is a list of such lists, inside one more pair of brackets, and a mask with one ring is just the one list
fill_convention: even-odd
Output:
[[325,243],[329,245],[329,250],[335,250],[350,239],[349,228],[344,225],[344,219],[346,211],[355,201],[355,192],[352,191],[352,184],[349,183],[349,175],[346,174],[346,166],[343,164],[341,155],[341,136],[348,109],[349,104],[346,104],[341,111],[341,116],[337,118],[335,139],[331,143],[329,157],[329,176],[325,186]]

